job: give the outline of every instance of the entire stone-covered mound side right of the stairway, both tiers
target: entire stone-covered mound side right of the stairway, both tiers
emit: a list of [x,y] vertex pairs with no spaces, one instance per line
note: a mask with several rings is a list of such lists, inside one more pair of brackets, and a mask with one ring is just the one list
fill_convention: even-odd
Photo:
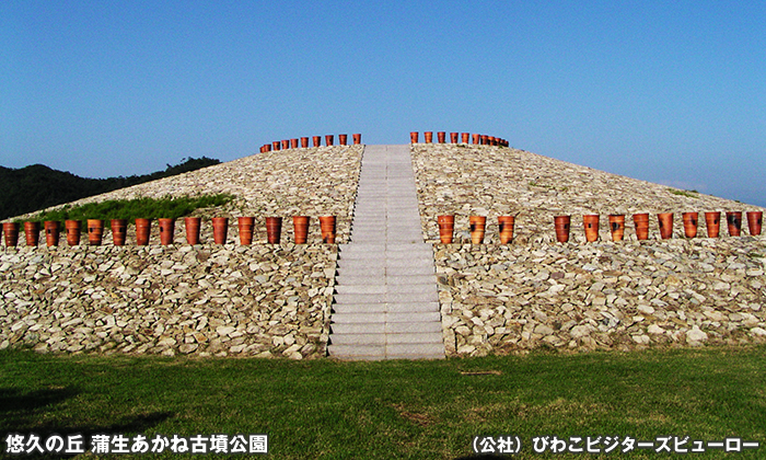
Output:
[[[685,239],[681,225],[684,211],[761,208],[507,148],[414,145],[413,160],[448,356],[766,342],[766,239],[729,237],[726,221],[721,238],[703,223]],[[648,241],[636,212],[651,214]],[[673,239],[660,240],[658,212],[675,214]],[[456,215],[454,244],[438,243],[442,214]],[[583,214],[601,216],[600,241],[585,242]],[[612,242],[610,214],[627,215],[625,241]],[[487,244],[471,244],[471,215],[487,216]],[[517,216],[509,245],[500,215]],[[568,243],[556,215],[571,215]]]

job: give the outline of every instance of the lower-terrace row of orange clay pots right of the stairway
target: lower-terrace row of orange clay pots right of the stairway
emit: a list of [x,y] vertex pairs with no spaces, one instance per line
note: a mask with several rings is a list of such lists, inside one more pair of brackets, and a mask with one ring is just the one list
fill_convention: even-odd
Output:
[[[747,212],[747,228],[751,235],[761,234],[761,225],[763,221],[762,211]],[[660,238],[666,240],[673,235],[673,212],[661,212],[657,215],[660,226]],[[649,215],[634,214],[632,220],[636,229],[637,240],[649,239]],[[438,216],[439,239],[443,244],[452,243],[454,234],[454,216]],[[501,244],[508,244],[513,239],[513,225],[515,218],[513,216],[498,216],[498,232]],[[582,216],[582,222],[585,230],[585,240],[589,242],[599,239],[599,215]],[[697,212],[684,212],[684,234],[686,238],[695,238],[697,235],[698,226]],[[707,226],[708,238],[718,238],[721,212],[705,212],[705,222]],[[471,216],[468,218],[471,226],[471,242],[473,244],[481,244],[486,231],[487,218],[484,216]],[[556,230],[556,239],[566,243],[569,241],[569,223],[570,216],[554,217],[554,228]],[[727,225],[731,237],[739,237],[742,233],[742,212],[727,212]],[[610,216],[610,230],[612,231],[612,241],[622,241],[625,234],[625,215]]]

